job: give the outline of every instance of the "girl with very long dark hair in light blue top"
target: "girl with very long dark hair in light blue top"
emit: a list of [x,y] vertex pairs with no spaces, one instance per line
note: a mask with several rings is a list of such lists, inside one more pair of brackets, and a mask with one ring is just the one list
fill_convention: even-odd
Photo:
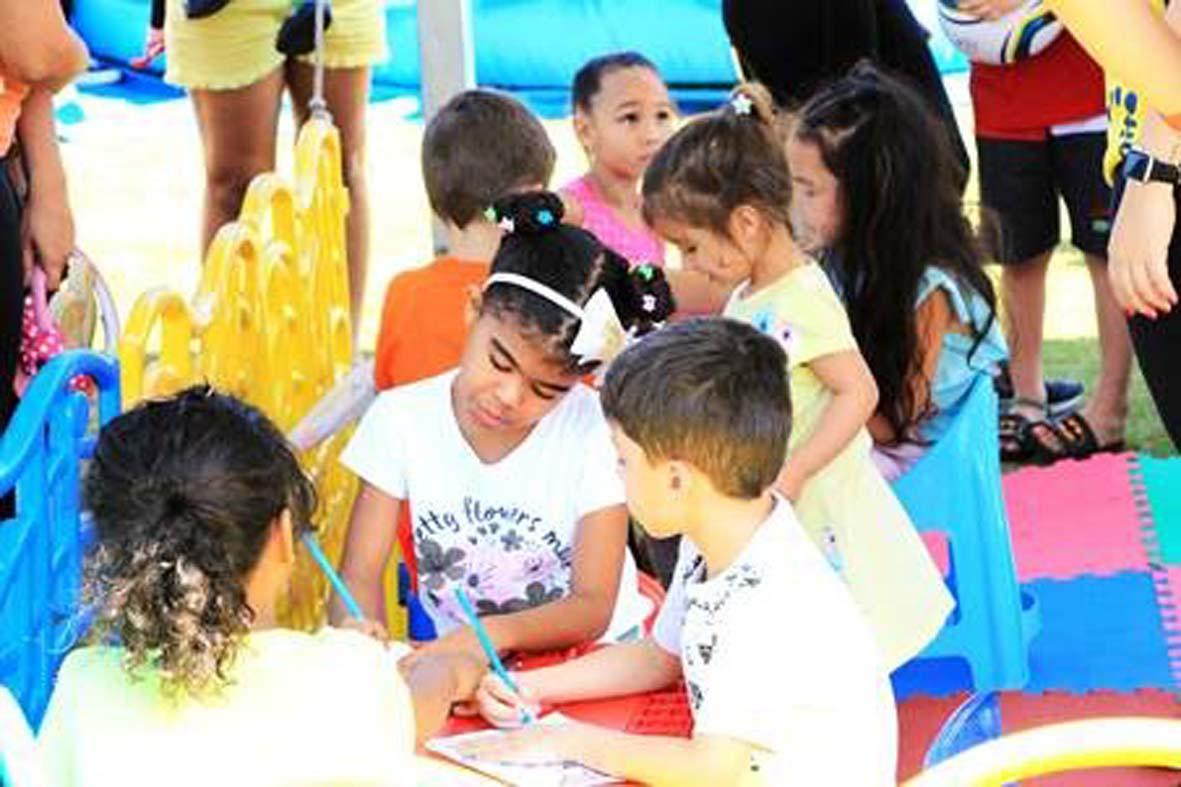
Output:
[[1006,356],[957,163],[922,99],[869,65],[801,109],[788,157],[796,227],[828,249],[877,384],[869,432],[893,481],[939,442],[977,377]]

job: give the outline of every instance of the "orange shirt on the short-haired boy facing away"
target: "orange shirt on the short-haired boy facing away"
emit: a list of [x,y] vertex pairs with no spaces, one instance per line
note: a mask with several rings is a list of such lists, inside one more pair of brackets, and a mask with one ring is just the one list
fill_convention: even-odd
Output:
[[464,308],[488,262],[441,256],[390,281],[377,337],[374,383],[385,390],[439,375],[459,364],[468,337]]

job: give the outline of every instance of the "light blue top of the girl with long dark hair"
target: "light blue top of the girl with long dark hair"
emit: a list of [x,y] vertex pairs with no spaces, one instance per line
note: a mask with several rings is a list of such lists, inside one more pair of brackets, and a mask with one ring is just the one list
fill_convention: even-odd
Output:
[[944,349],[935,366],[935,378],[931,384],[931,399],[935,415],[922,424],[922,437],[939,442],[951,425],[959,405],[979,375],[992,376],[998,362],[1009,357],[1009,346],[1000,333],[1000,320],[990,317],[988,304],[979,293],[961,287],[946,271],[932,266],[922,274],[915,306],[920,306],[937,290],[941,290],[951,303],[955,318],[973,332],[987,331],[977,344],[974,336],[944,334]]

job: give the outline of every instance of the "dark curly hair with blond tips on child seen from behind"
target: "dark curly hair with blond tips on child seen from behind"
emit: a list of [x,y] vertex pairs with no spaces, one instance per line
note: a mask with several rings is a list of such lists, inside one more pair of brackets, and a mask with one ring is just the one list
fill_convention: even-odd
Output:
[[259,410],[208,386],[144,402],[102,431],[84,483],[98,547],[86,561],[91,638],[169,691],[227,681],[254,610],[244,580],[272,522],[307,527],[315,490]]

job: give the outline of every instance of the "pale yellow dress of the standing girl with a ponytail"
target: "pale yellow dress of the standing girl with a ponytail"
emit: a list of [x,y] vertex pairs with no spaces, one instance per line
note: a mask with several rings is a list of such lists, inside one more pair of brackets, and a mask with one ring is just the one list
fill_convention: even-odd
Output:
[[[808,264],[751,293],[730,297],[725,316],[749,323],[788,352],[792,425],[788,461],[820,423],[833,394],[809,369],[816,358],[856,350],[848,317],[820,266]],[[869,618],[888,669],[916,656],[939,632],[953,601],[931,554],[869,458],[862,428],[808,481],[795,503],[813,541],[844,577]]]

